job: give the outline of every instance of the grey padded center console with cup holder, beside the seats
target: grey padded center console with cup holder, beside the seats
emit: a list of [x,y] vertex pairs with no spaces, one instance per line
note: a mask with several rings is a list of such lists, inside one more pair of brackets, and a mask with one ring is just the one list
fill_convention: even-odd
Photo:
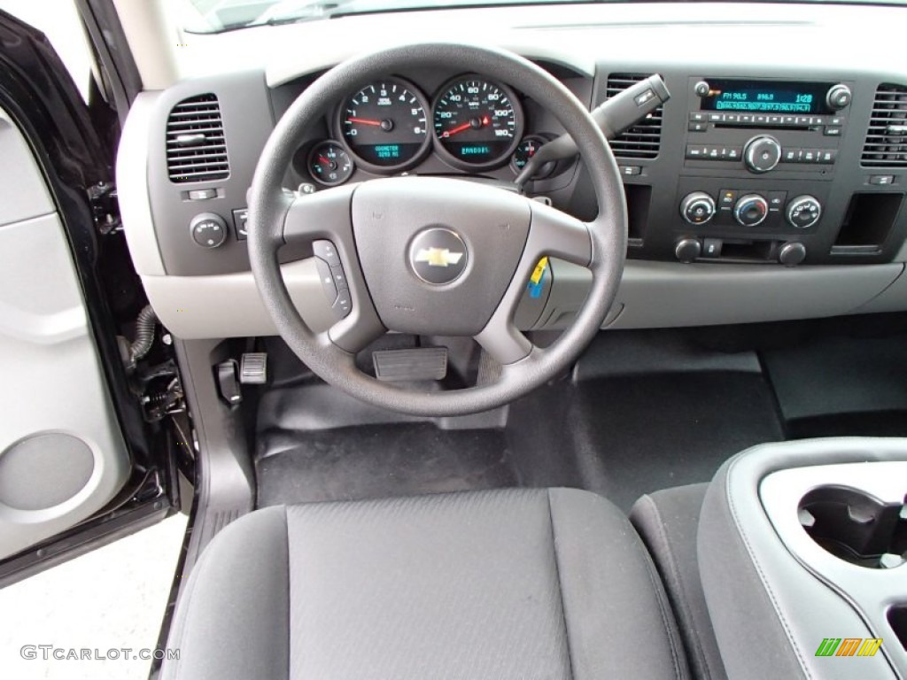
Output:
[[707,491],[698,558],[729,676],[907,677],[907,440],[736,456]]

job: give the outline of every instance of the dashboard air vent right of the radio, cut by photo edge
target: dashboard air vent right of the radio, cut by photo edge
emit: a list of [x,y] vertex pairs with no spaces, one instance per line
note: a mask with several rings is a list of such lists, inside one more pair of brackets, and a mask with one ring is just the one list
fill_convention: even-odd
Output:
[[879,85],[863,145],[863,166],[907,167],[907,87]]

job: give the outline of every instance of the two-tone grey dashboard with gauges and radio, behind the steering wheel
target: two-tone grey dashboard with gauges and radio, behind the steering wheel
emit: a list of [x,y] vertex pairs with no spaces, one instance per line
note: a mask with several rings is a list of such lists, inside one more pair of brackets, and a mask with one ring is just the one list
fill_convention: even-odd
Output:
[[[761,21],[735,24],[722,15],[728,6],[707,5],[709,14],[706,5],[673,4],[666,13],[677,13],[676,22],[621,26],[559,24],[539,10],[545,20],[525,29],[538,44],[520,51],[590,109],[651,73],[672,94],[611,142],[627,197],[629,260],[606,325],[907,309],[907,71],[867,53],[869,43],[853,43],[840,58],[809,46],[820,36],[853,40],[847,24],[855,15],[891,24],[900,10],[823,5],[826,16],[840,15],[826,25],[808,19],[809,8],[766,5]],[[457,15],[466,22],[496,12]],[[427,25],[454,13],[417,14],[414,21]],[[684,20],[725,33],[711,47],[626,51],[679,38]],[[789,54],[743,60],[725,51],[743,36],[779,34]],[[331,65],[325,59],[303,63],[295,55],[227,69],[136,102],[118,166],[124,223],[151,302],[177,335],[273,332],[249,273],[246,193],[268,134]],[[304,194],[400,174],[512,182],[562,131],[553,112],[493,73],[414,64],[325,102],[321,120],[299,138],[284,183]],[[581,156],[543,166],[527,192],[580,219],[598,211]],[[308,255],[285,248],[284,274],[307,320],[327,325]],[[552,261],[537,283],[518,315],[525,329],[569,323],[589,277]]]

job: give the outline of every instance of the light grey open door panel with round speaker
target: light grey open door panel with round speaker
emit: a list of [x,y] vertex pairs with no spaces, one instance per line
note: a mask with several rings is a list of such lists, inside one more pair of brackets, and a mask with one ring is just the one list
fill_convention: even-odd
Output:
[[90,517],[131,461],[63,224],[0,109],[0,559]]

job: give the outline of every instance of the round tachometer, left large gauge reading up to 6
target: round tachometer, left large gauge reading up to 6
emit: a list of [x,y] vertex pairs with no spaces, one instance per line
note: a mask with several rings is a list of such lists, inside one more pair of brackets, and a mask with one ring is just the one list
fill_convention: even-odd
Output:
[[366,170],[402,170],[431,145],[428,105],[414,85],[399,78],[370,83],[340,107],[338,126]]

